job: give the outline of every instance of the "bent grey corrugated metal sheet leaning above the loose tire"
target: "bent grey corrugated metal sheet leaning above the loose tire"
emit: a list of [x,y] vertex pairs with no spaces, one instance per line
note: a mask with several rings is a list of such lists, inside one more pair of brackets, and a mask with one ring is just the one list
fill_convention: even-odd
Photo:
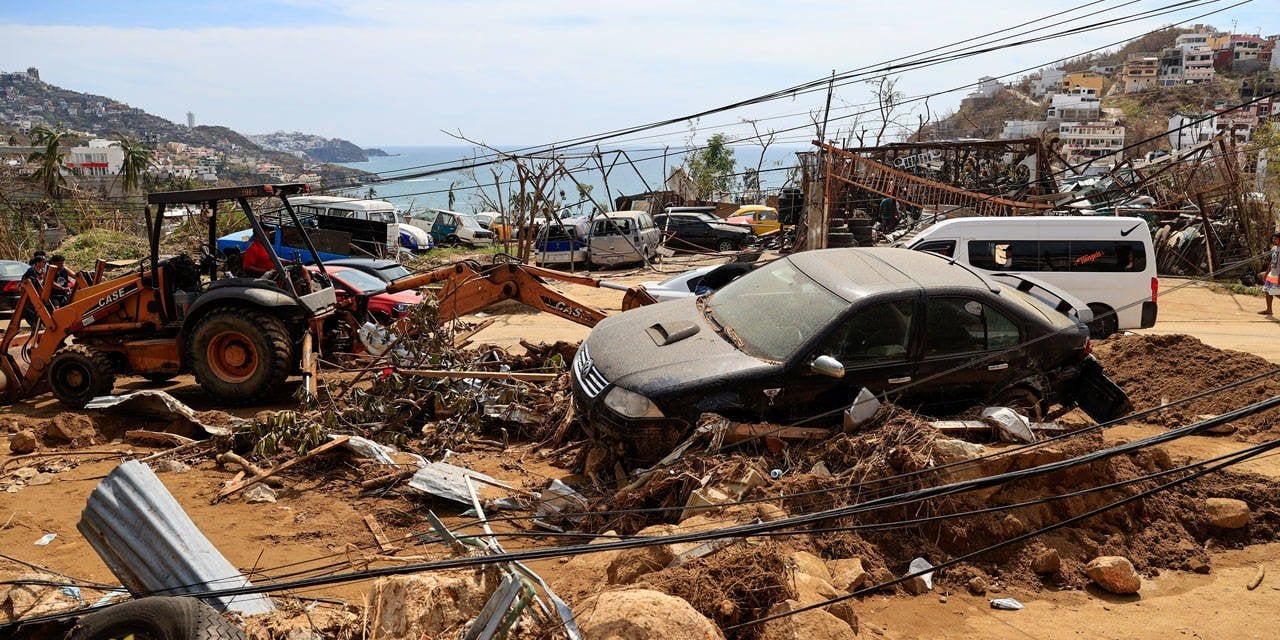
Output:
[[[151,468],[137,461],[124,462],[99,483],[77,529],[134,596],[250,584],[196,527]],[[246,616],[275,609],[270,598],[260,594],[205,602]]]

